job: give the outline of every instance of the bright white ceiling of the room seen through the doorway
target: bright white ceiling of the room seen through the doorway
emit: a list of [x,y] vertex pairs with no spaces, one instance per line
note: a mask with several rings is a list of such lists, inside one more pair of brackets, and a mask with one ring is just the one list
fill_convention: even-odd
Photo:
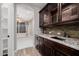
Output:
[[21,18],[21,20],[31,20],[33,18],[33,11],[31,8],[25,5],[16,6],[16,15]]

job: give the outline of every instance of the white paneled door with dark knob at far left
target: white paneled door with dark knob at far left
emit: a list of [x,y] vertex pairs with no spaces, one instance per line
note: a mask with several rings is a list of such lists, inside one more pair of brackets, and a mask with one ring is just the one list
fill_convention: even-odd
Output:
[[14,4],[0,4],[0,55],[14,55]]

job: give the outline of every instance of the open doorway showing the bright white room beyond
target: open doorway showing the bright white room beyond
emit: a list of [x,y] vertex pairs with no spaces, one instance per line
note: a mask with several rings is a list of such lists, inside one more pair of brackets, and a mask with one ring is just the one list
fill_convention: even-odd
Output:
[[16,4],[16,51],[34,45],[34,10],[27,4]]

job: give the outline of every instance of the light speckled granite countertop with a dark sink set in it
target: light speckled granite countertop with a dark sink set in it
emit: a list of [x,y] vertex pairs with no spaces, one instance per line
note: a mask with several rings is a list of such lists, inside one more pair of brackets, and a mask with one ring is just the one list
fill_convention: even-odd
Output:
[[57,36],[57,37],[65,39],[65,40],[58,40],[58,39],[51,38],[51,37],[55,37],[56,35],[48,35],[48,34],[36,34],[36,35],[46,38],[48,40],[54,41],[54,42],[58,42],[60,44],[74,48],[76,50],[79,50],[79,39]]

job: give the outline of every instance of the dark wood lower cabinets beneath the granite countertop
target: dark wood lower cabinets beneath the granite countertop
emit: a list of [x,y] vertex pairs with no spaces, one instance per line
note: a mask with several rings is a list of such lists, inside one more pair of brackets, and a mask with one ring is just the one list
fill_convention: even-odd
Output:
[[79,56],[79,50],[39,36],[37,38],[35,46],[42,56]]

